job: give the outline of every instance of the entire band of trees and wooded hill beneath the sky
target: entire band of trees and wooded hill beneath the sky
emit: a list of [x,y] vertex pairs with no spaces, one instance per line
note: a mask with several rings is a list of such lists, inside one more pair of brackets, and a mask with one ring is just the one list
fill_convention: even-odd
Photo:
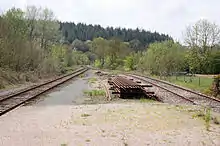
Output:
[[198,20],[182,45],[139,29],[59,22],[48,8],[12,8],[0,16],[0,88],[64,74],[76,65],[148,72],[220,73],[220,27]]

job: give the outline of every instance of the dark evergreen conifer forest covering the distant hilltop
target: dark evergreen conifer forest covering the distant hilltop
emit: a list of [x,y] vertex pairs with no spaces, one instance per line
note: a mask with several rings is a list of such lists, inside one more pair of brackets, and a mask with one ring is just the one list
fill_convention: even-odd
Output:
[[60,22],[63,42],[72,43],[74,40],[93,40],[95,38],[104,38],[110,40],[113,37],[123,42],[129,42],[130,48],[135,51],[144,50],[150,43],[172,40],[166,34],[158,32],[145,31],[144,29],[126,29],[126,28],[103,28],[100,25],[87,25],[84,23],[75,24],[74,22]]

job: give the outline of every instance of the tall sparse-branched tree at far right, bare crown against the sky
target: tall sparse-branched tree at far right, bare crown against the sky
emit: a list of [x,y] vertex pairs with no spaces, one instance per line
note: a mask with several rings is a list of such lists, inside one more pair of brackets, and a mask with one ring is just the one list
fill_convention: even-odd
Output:
[[208,73],[209,56],[219,42],[220,28],[215,23],[199,20],[187,28],[185,43],[189,48],[187,59],[191,72]]

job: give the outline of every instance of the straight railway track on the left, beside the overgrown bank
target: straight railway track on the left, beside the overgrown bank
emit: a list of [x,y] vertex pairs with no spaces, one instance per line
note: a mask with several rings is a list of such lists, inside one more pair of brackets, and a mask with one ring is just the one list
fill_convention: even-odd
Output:
[[21,90],[20,92],[9,94],[0,98],[0,116],[13,110],[14,108],[30,101],[37,96],[63,84],[64,82],[86,72],[87,68],[81,68],[73,73],[64,75],[51,81]]

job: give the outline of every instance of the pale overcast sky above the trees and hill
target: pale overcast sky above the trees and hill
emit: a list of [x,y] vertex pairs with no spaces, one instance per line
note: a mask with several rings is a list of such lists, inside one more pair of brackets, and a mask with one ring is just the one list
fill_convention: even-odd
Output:
[[220,25],[220,0],[0,0],[0,10],[48,7],[61,21],[143,28],[182,41],[187,25],[208,19]]

